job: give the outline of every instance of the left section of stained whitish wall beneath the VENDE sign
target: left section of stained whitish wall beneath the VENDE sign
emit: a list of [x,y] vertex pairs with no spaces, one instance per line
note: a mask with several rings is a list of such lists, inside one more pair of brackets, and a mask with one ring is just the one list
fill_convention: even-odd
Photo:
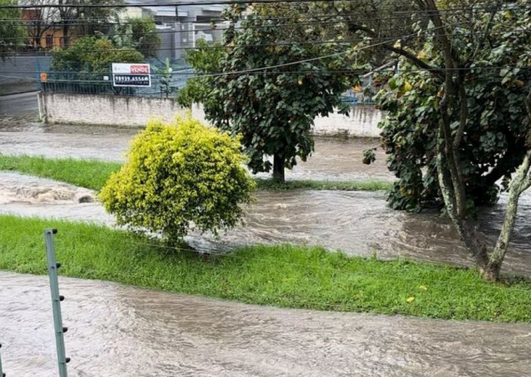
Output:
[[39,93],[38,110],[46,123],[145,126],[152,117],[169,121],[186,114],[170,98],[107,94]]

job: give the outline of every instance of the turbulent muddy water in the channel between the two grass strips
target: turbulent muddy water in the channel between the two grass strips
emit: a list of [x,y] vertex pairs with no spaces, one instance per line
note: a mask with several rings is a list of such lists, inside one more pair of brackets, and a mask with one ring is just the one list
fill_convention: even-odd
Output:
[[[504,272],[531,276],[529,241],[531,193],[523,196],[515,237]],[[0,213],[114,224],[94,198],[94,191],[50,179],[0,172]],[[504,198],[483,209],[477,224],[494,242]],[[257,191],[245,207],[244,226],[214,238],[191,232],[187,241],[201,251],[229,252],[235,246],[261,243],[320,245],[350,255],[414,258],[472,265],[456,231],[437,212],[407,214],[386,206],[381,192]]]

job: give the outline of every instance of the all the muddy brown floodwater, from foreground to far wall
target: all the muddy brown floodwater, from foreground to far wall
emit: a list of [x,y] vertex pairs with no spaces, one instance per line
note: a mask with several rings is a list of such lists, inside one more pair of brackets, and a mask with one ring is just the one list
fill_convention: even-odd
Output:
[[[123,161],[138,130],[0,123],[1,154]],[[316,141],[288,179],[391,180],[385,156],[361,163],[374,140]],[[484,208],[479,230],[494,239],[500,208]],[[114,225],[94,191],[0,172],[0,213]],[[531,276],[531,192],[521,198],[504,272]],[[201,250],[290,242],[350,255],[470,265],[437,212],[395,212],[381,192],[259,191],[245,226],[219,239],[192,233]],[[43,251],[44,258],[44,251]],[[528,376],[531,325],[455,322],[277,309],[60,279],[69,376]],[[0,343],[7,377],[57,376],[48,278],[0,272]]]

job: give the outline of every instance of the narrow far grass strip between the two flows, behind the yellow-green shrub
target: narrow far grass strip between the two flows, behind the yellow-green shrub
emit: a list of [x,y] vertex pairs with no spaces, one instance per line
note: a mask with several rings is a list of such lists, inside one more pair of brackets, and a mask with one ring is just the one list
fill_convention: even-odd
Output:
[[[21,172],[27,175],[55,179],[99,191],[112,172],[121,164],[74,158],[45,158],[39,156],[4,156],[0,154],[0,170]],[[275,182],[272,179],[256,179],[259,190],[386,190],[388,182],[313,181],[290,180]]]

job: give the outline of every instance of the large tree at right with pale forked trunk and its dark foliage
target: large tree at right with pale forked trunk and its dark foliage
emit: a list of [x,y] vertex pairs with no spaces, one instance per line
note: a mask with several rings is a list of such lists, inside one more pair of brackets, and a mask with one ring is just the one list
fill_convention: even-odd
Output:
[[[423,133],[417,141],[425,145],[419,147],[416,142],[404,142],[403,146],[409,149],[413,161],[428,165],[425,187],[433,187],[430,180],[435,182],[437,177],[436,187],[440,190],[446,212],[474,256],[481,274],[488,280],[497,279],[511,240],[518,198],[531,184],[531,83],[528,73],[531,3],[528,0],[448,0],[437,4],[433,0],[395,2],[414,9],[402,29],[407,34],[389,38],[388,44],[382,44],[381,36],[386,33],[374,25],[365,24],[363,11],[373,12],[381,6],[390,6],[390,3],[340,2],[337,13],[351,14],[347,29],[357,36],[364,36],[363,43],[379,40],[381,47],[407,59],[415,70],[425,71],[417,77],[421,83],[410,82],[414,75],[410,72],[399,74],[390,82],[395,98],[384,100],[384,106],[394,115],[391,114],[389,126],[384,128],[384,138],[395,138],[398,143],[391,142],[386,147],[391,148],[392,153],[393,148],[396,151],[402,147],[400,139],[405,137],[402,130],[408,127]],[[354,8],[358,12],[352,13]],[[507,108],[502,114],[495,111],[501,109],[500,105],[495,109],[486,107],[490,101],[499,101],[504,94],[507,94]],[[396,98],[398,96],[404,99]],[[413,115],[396,108],[405,103],[414,105]],[[507,118],[501,119],[500,115]],[[419,120],[423,123],[412,125]],[[496,133],[492,133],[493,130]],[[389,133],[385,134],[387,131]],[[479,140],[474,140],[478,136]],[[511,147],[511,143],[521,149]],[[480,155],[484,151],[487,156]],[[408,153],[396,156],[398,158],[394,161],[391,157],[391,163],[404,163],[403,158]],[[391,168],[395,168],[399,175],[414,175],[411,180],[417,184],[423,177],[418,168],[393,165]],[[489,168],[492,170],[486,172]],[[493,170],[500,172],[493,173]],[[479,175],[479,172],[486,172],[486,175]],[[502,230],[496,244],[488,246],[478,237],[470,222],[474,214],[470,198],[476,188],[482,186],[478,179],[490,177],[491,182],[496,174],[509,179],[511,172],[514,174],[510,178],[509,202]],[[470,177],[472,182],[469,183]],[[483,183],[487,188],[490,186],[489,182]],[[404,186],[400,189],[403,190],[402,198],[422,195],[415,188]]]

